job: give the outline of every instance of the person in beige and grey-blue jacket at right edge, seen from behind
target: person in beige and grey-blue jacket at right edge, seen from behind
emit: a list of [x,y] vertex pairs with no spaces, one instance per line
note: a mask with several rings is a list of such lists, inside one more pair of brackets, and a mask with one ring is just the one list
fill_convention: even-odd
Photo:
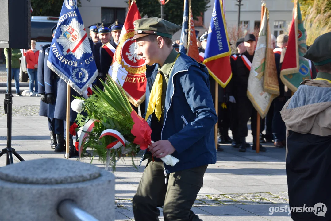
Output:
[[331,220],[331,32],[304,57],[316,66],[316,79],[303,81],[281,110],[289,203],[297,207],[291,218]]

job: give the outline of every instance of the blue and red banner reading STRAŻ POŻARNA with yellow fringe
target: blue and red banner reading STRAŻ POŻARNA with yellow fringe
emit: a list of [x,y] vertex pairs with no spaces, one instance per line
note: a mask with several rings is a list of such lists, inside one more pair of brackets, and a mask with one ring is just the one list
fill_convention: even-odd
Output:
[[230,54],[223,3],[222,0],[215,0],[203,63],[208,68],[209,74],[222,87],[225,87],[232,77]]

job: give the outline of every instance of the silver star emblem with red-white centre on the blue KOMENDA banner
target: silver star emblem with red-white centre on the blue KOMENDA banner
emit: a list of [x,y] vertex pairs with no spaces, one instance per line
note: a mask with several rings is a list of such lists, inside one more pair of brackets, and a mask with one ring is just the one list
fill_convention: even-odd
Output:
[[73,54],[80,59],[84,53],[92,53],[84,25],[72,19],[69,25],[61,25],[61,35],[56,42],[63,47],[63,54]]

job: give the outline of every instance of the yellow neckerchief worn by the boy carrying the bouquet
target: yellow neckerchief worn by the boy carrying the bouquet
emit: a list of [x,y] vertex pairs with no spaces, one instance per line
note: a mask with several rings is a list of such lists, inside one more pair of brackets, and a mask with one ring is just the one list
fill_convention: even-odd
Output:
[[[176,62],[177,58],[179,57],[179,53],[173,63]],[[170,75],[170,73],[169,73]],[[160,121],[162,115],[162,76],[160,71],[156,75],[155,81],[152,86],[151,93],[149,95],[149,102],[146,112],[145,120],[148,119],[149,115],[155,112],[156,117]]]

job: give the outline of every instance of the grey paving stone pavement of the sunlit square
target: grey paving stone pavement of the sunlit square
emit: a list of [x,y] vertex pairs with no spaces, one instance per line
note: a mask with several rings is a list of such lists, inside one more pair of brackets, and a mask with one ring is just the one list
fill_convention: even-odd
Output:
[[[1,98],[4,99],[4,95],[1,95]],[[13,98],[13,109],[20,109],[21,112],[13,116],[12,147],[25,160],[62,158],[63,153],[55,153],[50,148],[47,118],[36,116],[39,102],[40,97]],[[3,110],[2,106],[0,110]],[[229,135],[231,136],[231,132]],[[0,116],[0,147],[2,148],[6,147],[6,136],[7,118]],[[251,135],[247,141],[252,141]],[[222,147],[224,152],[217,152],[216,164],[209,165],[207,168],[204,187],[201,188],[192,211],[204,221],[292,220],[285,212],[269,214],[270,206],[289,205],[284,162],[285,149],[266,144],[267,152],[256,153],[248,150],[246,153],[240,153],[230,144],[223,144]],[[139,165],[139,161],[140,158],[134,159],[136,165]],[[84,159],[83,162],[90,163],[91,159]],[[97,157],[92,163],[103,168]],[[143,162],[139,169],[133,168],[131,163],[130,158],[119,160],[114,172],[116,221],[134,220],[132,198],[146,162]],[[0,166],[5,164],[6,157],[2,156]],[[160,220],[164,220],[162,208],[159,209]]]

